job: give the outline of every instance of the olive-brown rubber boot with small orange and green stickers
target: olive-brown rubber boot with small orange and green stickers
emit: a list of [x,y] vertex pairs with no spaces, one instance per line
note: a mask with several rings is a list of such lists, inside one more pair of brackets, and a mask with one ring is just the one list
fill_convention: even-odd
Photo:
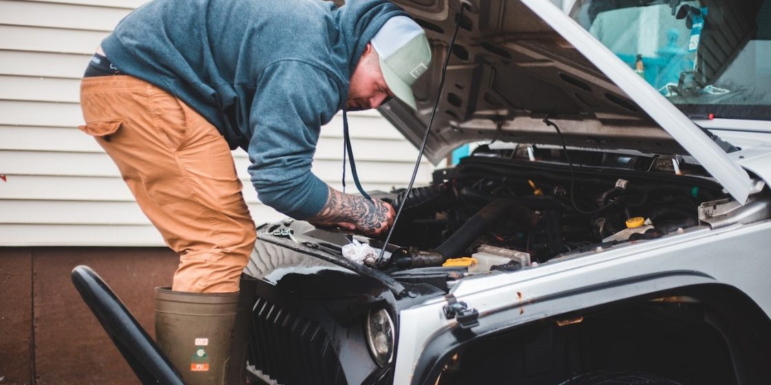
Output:
[[187,385],[226,384],[238,297],[156,288],[156,340]]

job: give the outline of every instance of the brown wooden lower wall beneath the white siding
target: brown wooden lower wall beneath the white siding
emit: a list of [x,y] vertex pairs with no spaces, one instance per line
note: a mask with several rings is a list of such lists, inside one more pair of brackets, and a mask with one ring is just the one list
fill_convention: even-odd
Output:
[[165,248],[0,247],[0,384],[138,384],[70,272],[94,269],[154,337],[153,289],[177,261]]

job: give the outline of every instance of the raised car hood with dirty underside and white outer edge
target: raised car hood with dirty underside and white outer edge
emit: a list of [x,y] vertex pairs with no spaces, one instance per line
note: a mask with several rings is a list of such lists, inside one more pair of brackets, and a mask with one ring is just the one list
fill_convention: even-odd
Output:
[[[395,0],[419,22],[433,63],[413,90],[418,110],[393,100],[380,112],[423,142],[461,2]],[[631,149],[693,156],[740,203],[747,172],[675,105],[547,0],[463,2],[460,29],[425,155],[439,162],[467,142]]]

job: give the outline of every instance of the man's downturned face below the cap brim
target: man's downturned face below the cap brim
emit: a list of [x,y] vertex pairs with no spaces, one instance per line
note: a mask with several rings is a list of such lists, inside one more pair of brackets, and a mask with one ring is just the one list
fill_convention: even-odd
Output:
[[372,44],[368,44],[351,75],[348,100],[345,102],[346,109],[348,111],[376,109],[392,97],[393,93],[385,84],[385,78],[380,70],[378,54],[372,48]]

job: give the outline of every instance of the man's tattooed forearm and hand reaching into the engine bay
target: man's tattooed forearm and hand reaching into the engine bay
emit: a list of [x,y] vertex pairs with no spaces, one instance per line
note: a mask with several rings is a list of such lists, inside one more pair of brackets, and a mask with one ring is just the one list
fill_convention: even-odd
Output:
[[322,226],[340,226],[368,236],[379,236],[393,224],[396,212],[380,199],[372,202],[362,196],[344,194],[329,189],[327,203],[309,222]]

